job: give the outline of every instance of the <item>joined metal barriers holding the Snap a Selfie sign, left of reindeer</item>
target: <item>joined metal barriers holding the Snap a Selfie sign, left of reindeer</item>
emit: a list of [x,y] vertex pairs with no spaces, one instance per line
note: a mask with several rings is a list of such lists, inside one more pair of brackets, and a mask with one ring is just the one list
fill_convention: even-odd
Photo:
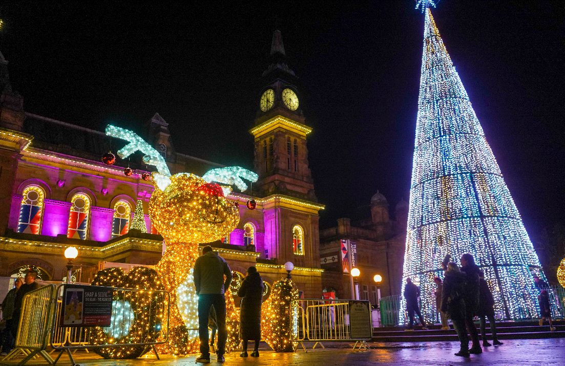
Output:
[[[110,354],[111,350],[123,351],[128,346],[136,346],[133,348],[136,348],[137,356],[153,349],[159,358],[155,345],[168,342],[169,334],[171,301],[167,291],[114,288],[110,326],[72,327],[59,324],[63,308],[62,286],[47,285],[25,294],[14,350],[0,361],[23,354],[24,359],[19,365],[36,356],[44,358],[47,364],[55,364],[66,352],[75,364],[71,350],[95,348],[99,354]],[[147,305],[151,301],[153,306]],[[145,306],[136,307],[133,302]],[[134,333],[134,337],[130,337],[130,333]],[[52,348],[51,352],[59,351],[55,359],[47,353],[47,347]]]

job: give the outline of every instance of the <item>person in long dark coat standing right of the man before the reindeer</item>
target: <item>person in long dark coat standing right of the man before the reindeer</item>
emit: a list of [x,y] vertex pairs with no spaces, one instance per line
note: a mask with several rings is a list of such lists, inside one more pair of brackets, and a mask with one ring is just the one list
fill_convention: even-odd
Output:
[[237,296],[241,298],[240,335],[243,343],[241,357],[247,357],[247,341],[255,341],[251,357],[259,357],[261,341],[261,303],[263,302],[263,278],[257,268],[249,267]]

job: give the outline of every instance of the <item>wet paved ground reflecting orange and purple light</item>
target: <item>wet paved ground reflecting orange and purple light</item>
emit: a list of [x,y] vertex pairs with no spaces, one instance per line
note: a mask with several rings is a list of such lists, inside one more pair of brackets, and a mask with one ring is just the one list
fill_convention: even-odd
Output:
[[[325,350],[316,349],[294,354],[276,354],[272,351],[260,352],[259,358],[240,358],[238,354],[228,354],[225,365],[565,365],[565,338],[554,339],[518,339],[505,341],[500,347],[487,347],[481,355],[471,355],[463,359],[454,356],[458,351],[456,342],[428,343],[371,343],[368,351],[351,351],[347,345],[327,344]],[[333,348],[335,347],[335,348]],[[171,357],[161,356],[157,360],[154,355],[138,360],[103,360],[93,354],[79,351],[75,361],[88,366],[195,366],[195,356]],[[212,355],[212,365],[218,365]],[[21,360],[21,359],[20,359]],[[16,362],[1,363],[14,365]],[[44,365],[44,360],[36,359],[32,365]],[[57,363],[69,366],[66,355]]]

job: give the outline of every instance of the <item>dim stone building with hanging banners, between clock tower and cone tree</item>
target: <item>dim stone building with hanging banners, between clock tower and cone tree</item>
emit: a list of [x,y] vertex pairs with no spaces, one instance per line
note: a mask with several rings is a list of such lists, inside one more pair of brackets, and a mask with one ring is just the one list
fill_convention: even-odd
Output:
[[401,293],[402,265],[405,253],[408,203],[398,202],[394,219],[389,216],[389,206],[383,194],[371,198],[371,218],[352,222],[348,218],[337,220],[337,226],[320,230],[322,285],[334,290],[338,298],[354,298],[354,282],[349,272],[343,271],[341,241],[357,245],[359,298],[377,303],[375,275],[381,275],[381,297]]

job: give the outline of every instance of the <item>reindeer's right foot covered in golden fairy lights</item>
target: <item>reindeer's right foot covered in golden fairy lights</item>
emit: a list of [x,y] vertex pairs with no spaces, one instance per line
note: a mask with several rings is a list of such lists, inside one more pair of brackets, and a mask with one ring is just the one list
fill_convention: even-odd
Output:
[[261,338],[275,352],[293,352],[296,342],[290,340],[290,303],[298,298],[298,290],[290,278],[276,281],[270,297],[263,303],[261,311]]

